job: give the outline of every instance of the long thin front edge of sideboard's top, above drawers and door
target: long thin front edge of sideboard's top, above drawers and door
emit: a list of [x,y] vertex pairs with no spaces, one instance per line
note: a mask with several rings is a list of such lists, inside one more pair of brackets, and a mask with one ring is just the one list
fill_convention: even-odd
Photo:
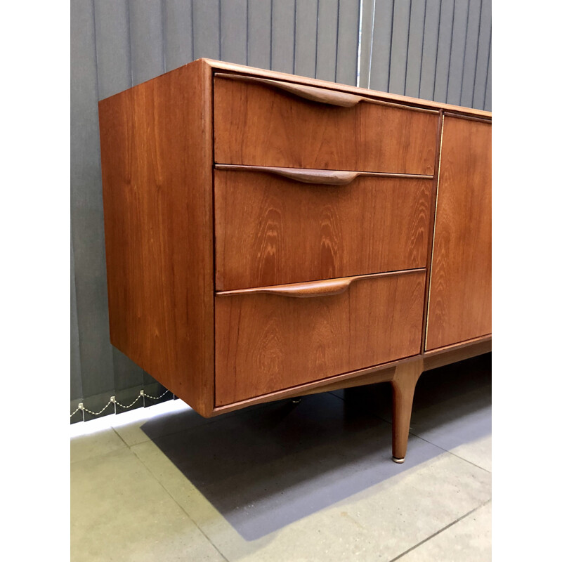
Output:
[[334,82],[320,80],[317,78],[308,78],[305,76],[297,76],[296,74],[287,74],[287,72],[276,72],[273,70],[264,70],[264,69],[254,68],[245,65],[226,63],[222,60],[214,60],[211,58],[200,58],[197,60],[204,61],[204,63],[213,67],[214,70],[218,69],[221,71],[244,73],[244,74],[249,74],[251,76],[264,77],[268,79],[286,80],[297,84],[299,83],[311,84],[328,89],[339,89],[340,91],[355,93],[359,96],[370,96],[370,98],[375,100],[386,101],[388,103],[395,103],[396,105],[404,105],[405,107],[410,107],[410,108],[419,107],[419,109],[430,109],[436,111],[440,109],[448,110],[448,111],[458,111],[463,115],[475,115],[484,118],[489,118],[492,116],[491,112],[489,111],[476,110],[473,109],[472,107],[462,107],[460,105],[439,103],[432,100],[423,100],[421,98],[411,98],[410,96],[400,96],[399,94],[396,93],[388,93],[388,92],[370,90],[366,88],[359,88],[358,86],[348,86],[348,84],[334,84]]

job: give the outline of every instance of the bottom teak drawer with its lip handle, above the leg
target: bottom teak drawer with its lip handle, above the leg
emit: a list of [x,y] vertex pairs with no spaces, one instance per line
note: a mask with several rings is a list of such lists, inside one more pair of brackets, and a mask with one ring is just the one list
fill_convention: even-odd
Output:
[[420,353],[424,291],[412,270],[216,294],[216,406]]

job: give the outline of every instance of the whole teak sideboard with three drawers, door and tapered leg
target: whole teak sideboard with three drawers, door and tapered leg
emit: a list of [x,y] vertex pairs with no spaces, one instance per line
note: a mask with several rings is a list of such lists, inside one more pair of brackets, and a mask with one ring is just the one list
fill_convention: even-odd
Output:
[[111,341],[205,417],[491,350],[491,114],[199,59],[99,103]]

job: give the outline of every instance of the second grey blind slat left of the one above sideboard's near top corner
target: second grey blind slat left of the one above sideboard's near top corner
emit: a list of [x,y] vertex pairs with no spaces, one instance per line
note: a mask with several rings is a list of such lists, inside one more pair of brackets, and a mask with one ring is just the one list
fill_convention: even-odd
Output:
[[162,0],[129,0],[133,85],[164,72]]

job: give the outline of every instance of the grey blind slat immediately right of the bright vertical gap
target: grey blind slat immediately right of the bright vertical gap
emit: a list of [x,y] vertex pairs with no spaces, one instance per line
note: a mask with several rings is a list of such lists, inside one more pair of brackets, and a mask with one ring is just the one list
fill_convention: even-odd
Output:
[[393,11],[393,0],[378,0],[374,3],[374,27],[369,87],[383,92],[388,91],[388,77],[391,67]]

